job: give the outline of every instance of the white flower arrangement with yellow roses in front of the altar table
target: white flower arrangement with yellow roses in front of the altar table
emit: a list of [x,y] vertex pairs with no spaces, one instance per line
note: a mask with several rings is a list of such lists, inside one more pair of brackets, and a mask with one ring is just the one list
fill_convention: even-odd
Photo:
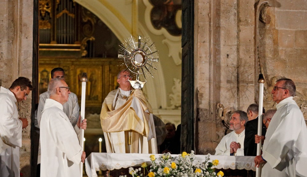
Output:
[[[147,170],[147,164],[143,163],[142,168],[134,169],[129,168],[129,174],[133,177],[145,176],[145,169],[147,170],[149,177],[222,177],[224,173],[222,171],[217,174],[212,169],[212,166],[218,165],[218,160],[213,160],[208,162],[210,159],[210,154],[205,159],[205,162],[193,163],[195,160],[194,151],[190,154],[183,152],[179,154],[178,160],[173,161],[170,153],[164,153],[160,156],[160,162],[156,162],[156,157],[154,155],[150,156],[152,165],[150,166],[150,171]],[[127,175],[120,176],[127,177]]]

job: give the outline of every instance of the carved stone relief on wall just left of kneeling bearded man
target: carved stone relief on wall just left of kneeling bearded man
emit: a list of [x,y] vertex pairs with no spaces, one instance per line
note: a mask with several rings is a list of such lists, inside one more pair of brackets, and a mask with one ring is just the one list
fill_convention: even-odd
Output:
[[229,121],[235,111],[234,107],[224,107],[223,104],[216,104],[216,141],[220,142],[222,137],[229,133]]

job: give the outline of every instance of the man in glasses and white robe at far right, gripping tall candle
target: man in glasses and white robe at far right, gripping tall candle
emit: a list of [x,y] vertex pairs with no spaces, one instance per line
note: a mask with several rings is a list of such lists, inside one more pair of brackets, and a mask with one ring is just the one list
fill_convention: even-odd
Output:
[[261,176],[307,176],[307,128],[293,100],[295,92],[291,79],[279,79],[273,87],[277,111],[268,126],[263,153],[255,157],[257,167],[266,162]]

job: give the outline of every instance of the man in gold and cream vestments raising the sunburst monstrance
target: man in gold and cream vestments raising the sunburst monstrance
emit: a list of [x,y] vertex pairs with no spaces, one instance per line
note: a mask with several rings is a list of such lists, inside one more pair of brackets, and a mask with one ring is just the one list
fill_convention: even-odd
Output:
[[152,108],[141,89],[131,90],[129,80],[130,72],[119,72],[119,88],[103,101],[100,120],[107,153],[157,153]]

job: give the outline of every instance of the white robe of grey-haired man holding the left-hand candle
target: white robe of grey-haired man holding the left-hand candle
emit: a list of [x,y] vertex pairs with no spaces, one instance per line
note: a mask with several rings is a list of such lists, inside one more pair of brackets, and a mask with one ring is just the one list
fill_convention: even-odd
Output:
[[40,127],[41,176],[80,176],[82,148],[62,104],[46,100]]

